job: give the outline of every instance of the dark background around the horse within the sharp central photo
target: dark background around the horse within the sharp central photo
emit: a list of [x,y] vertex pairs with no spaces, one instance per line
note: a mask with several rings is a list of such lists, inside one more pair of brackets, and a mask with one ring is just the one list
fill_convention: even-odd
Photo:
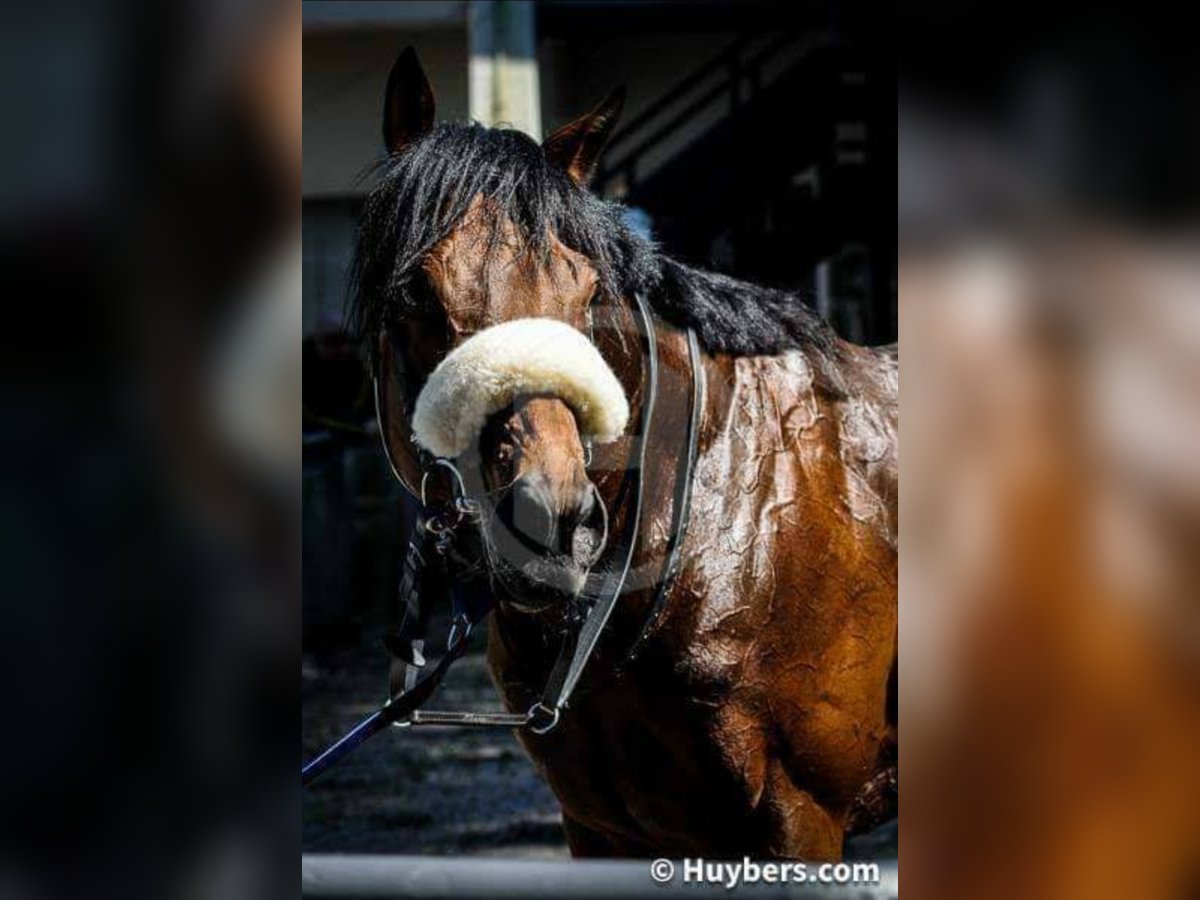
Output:
[[[594,191],[677,258],[803,292],[842,336],[886,343],[896,334],[890,29],[886,11],[844,0],[306,0],[306,751],[385,696],[378,641],[415,511],[379,451],[370,383],[342,331],[400,50],[416,49],[439,118],[539,140],[624,85]],[[498,708],[478,643],[442,691],[448,707]],[[566,854],[558,805],[506,732],[384,736],[302,803],[305,851]]]

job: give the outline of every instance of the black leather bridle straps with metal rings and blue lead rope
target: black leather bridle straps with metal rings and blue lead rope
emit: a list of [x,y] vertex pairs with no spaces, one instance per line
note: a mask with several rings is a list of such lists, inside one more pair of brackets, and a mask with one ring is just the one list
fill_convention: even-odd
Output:
[[[473,713],[464,710],[428,710],[422,707],[432,697],[450,666],[466,653],[470,635],[492,611],[492,604],[472,605],[462,598],[461,592],[451,592],[450,586],[455,566],[468,564],[456,557],[457,538],[462,529],[479,528],[481,506],[468,496],[462,473],[451,460],[421,460],[421,485],[416,499],[420,510],[412,530],[412,540],[404,556],[403,571],[400,580],[398,599],[404,611],[398,634],[389,635],[384,643],[391,654],[390,696],[374,713],[355,725],[338,738],[326,750],[308,762],[301,770],[302,784],[307,785],[347,754],[361,745],[373,734],[388,726],[416,727],[422,725],[451,725],[470,727],[523,728],[533,734],[546,734],[558,726],[562,713],[574,695],[580,678],[587,667],[596,643],[608,623],[617,602],[620,599],[634,557],[637,553],[637,539],[641,528],[642,503],[646,482],[646,452],[649,445],[654,410],[659,391],[659,356],[654,329],[654,314],[641,294],[634,294],[634,318],[644,347],[647,360],[644,391],[642,402],[641,428],[636,438],[632,456],[636,464],[626,468],[617,502],[628,497],[630,508],[625,521],[624,534],[616,545],[614,553],[606,553],[610,559],[607,569],[599,574],[599,588],[590,592],[595,600],[577,628],[566,629],[558,656],[551,668],[539,700],[524,713]],[[691,329],[686,331],[688,358],[691,367],[691,401],[685,438],[685,452],[682,455],[674,478],[672,505],[672,524],[667,538],[666,560],[659,577],[650,612],[626,653],[625,660],[618,666],[631,661],[644,647],[647,638],[666,607],[666,599],[677,574],[683,536],[688,528],[691,505],[691,481],[695,473],[698,451],[700,425],[704,407],[704,368],[700,354],[700,344]],[[594,336],[593,336],[594,343]],[[376,418],[383,438],[384,452],[395,478],[410,493],[416,493],[401,476],[388,445],[388,433],[382,414],[383,404],[379,394],[379,373],[374,373]],[[586,463],[592,462],[590,449],[586,446]],[[434,508],[430,503],[430,481],[440,472],[450,478],[451,500],[448,505]],[[599,497],[598,497],[598,502]],[[602,503],[602,502],[601,502]],[[607,522],[607,512],[605,512]],[[607,523],[606,523],[607,530]],[[593,575],[596,572],[593,570]],[[424,629],[430,611],[425,602],[430,594],[450,594],[452,619],[446,638],[445,653],[438,662],[428,668],[424,655]],[[424,674],[420,674],[424,671]]]

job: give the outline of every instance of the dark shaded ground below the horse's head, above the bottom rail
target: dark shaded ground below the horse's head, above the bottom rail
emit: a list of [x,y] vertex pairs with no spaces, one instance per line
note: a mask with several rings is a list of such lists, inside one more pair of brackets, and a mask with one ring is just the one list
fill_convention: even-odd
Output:
[[[434,706],[499,709],[480,650],[460,660]],[[304,756],[382,702],[383,649],[350,648],[305,667]],[[378,734],[304,793],[304,852],[565,858],[558,804],[505,730]]]

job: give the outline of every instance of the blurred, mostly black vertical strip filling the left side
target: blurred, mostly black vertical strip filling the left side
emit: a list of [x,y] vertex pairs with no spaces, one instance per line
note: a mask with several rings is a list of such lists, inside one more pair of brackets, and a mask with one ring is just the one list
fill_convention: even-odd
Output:
[[0,896],[299,892],[300,52],[0,10]]

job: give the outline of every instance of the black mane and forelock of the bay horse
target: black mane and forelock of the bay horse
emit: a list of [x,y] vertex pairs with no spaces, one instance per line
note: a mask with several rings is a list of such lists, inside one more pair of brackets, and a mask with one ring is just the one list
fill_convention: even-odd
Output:
[[516,226],[535,259],[547,258],[547,235],[557,235],[590,260],[605,293],[642,292],[664,319],[694,328],[709,352],[756,355],[834,346],[832,330],[799,295],[692,269],[660,253],[625,224],[620,205],[578,187],[526,134],[439,125],[383,164],[366,199],[349,323],[367,347],[389,320],[421,302],[414,274],[422,257],[480,196],[490,200],[491,215]]

